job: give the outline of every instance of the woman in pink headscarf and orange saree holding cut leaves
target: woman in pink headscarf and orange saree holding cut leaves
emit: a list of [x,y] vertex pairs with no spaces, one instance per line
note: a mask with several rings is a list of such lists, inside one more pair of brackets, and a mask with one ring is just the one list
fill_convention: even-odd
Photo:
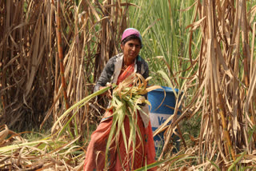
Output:
[[[123,53],[110,58],[106,63],[106,66],[94,87],[94,91],[105,88],[107,82],[116,83],[118,85],[119,82],[122,82],[134,72],[142,74],[144,78],[148,78],[148,65],[138,55],[141,48],[142,37],[138,30],[134,28],[126,29],[122,34],[121,40],[121,49]],[[110,91],[106,92],[104,95],[111,97]],[[142,106],[142,109],[148,113],[148,105]],[[103,170],[105,167],[106,141],[109,137],[112,125],[111,114],[111,111],[104,114],[98,128],[91,135],[91,141],[86,152],[86,160],[84,164],[85,171]],[[129,137],[130,125],[128,117],[125,118],[124,125],[126,136]],[[140,140],[138,137],[136,139],[136,149],[133,159],[134,165],[131,165],[130,158],[127,158],[126,149],[121,136],[118,145],[120,151],[119,154],[115,148],[117,145],[114,145],[113,143],[110,146],[107,170],[133,170],[154,162],[154,140],[149,117],[145,117],[144,114],[139,114],[138,127],[144,138],[143,140]]]

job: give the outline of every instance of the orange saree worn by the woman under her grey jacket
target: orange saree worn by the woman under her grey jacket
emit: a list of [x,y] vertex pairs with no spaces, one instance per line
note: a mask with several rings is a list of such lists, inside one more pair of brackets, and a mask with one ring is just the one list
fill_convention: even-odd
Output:
[[[117,84],[122,82],[133,72],[134,64],[128,66],[127,69],[119,75]],[[104,170],[106,141],[109,137],[112,125],[111,114],[112,111],[107,111],[104,114],[102,121],[100,122],[94,133],[92,133],[91,135],[91,141],[86,151],[86,160],[83,169],[84,171]],[[130,135],[130,123],[128,117],[125,117],[124,127],[126,131],[126,140],[128,140],[128,137]],[[108,165],[106,170],[134,170],[154,162],[155,149],[151,123],[149,123],[149,125],[145,128],[142,118],[139,114],[138,128],[140,129],[143,140],[140,140],[137,135],[135,145],[136,149],[130,149],[129,152],[132,153],[132,150],[135,150],[134,165],[131,165],[131,159],[127,157],[130,155],[127,155],[123,137],[120,136],[118,141],[120,156],[116,150],[117,145],[114,145],[114,143],[112,143],[108,153]]]

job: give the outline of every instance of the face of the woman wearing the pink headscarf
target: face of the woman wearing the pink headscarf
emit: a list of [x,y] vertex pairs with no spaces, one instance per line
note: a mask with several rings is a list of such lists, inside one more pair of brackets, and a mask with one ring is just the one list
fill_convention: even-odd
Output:
[[127,41],[126,44],[121,44],[121,49],[124,55],[124,58],[127,62],[134,62],[134,59],[138,56],[139,51],[141,50],[141,43],[137,38]]

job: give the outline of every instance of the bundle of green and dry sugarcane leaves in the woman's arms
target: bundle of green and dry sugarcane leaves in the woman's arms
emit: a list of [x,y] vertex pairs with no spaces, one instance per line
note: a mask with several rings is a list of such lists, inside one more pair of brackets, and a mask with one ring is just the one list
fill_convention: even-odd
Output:
[[[118,146],[120,136],[123,138],[126,155],[130,160],[130,165],[134,165],[136,136],[138,136],[138,139],[142,142],[142,134],[140,133],[140,129],[138,128],[137,124],[138,112],[149,117],[148,113],[145,113],[142,110],[142,106],[146,104],[150,105],[150,101],[146,100],[146,97],[143,95],[154,89],[162,89],[162,87],[159,85],[148,86],[147,83],[149,80],[150,78],[145,79],[141,74],[134,73],[126,78],[123,82],[116,85],[113,89],[113,97],[109,108],[113,111],[113,122],[110,129],[110,135],[106,143],[105,167],[108,165],[108,153],[112,143],[114,143],[118,157],[122,162]],[[129,118],[130,123],[130,135],[128,139],[126,137],[124,127],[125,117]],[[143,145],[143,143],[141,144]],[[130,154],[131,149],[133,149],[133,152]]]

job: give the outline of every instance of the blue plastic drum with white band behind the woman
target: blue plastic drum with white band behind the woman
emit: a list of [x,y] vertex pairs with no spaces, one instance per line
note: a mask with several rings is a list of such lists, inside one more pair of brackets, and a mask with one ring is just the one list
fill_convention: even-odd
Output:
[[[158,127],[162,125],[172,114],[174,114],[174,109],[171,109],[168,106],[174,108],[176,105],[176,97],[174,95],[173,89],[165,86],[162,86],[162,88],[166,91],[166,97],[163,89],[154,89],[148,93],[148,100],[151,103],[150,121],[153,132],[155,129],[158,129]],[[174,90],[178,94],[178,89]],[[163,99],[164,101],[162,102]],[[159,106],[161,102],[162,105]],[[170,123],[168,123],[168,125],[170,125]],[[157,157],[162,152],[163,145],[163,133],[158,133],[158,135],[154,136],[154,147],[157,153]]]

